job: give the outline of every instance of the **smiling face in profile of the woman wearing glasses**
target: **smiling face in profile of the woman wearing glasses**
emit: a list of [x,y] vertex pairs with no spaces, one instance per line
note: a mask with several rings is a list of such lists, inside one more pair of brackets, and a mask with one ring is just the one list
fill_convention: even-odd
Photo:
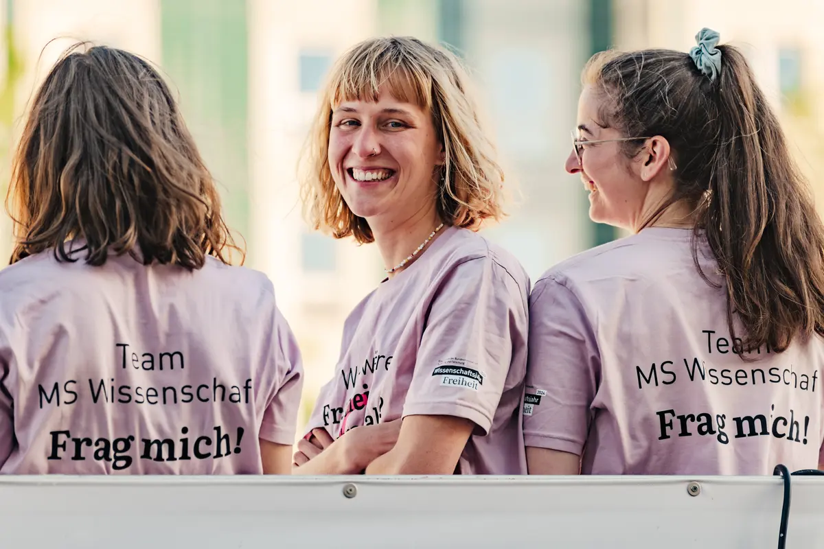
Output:
[[[600,141],[634,137],[622,135],[615,128],[604,128],[599,121],[604,95],[593,86],[585,86],[578,100],[577,138],[580,141]],[[589,217],[634,230],[643,215],[649,184],[639,173],[643,170],[643,154],[629,159],[621,151],[622,142],[583,143],[579,154],[571,151],[565,169],[579,174],[589,191]],[[640,141],[639,141],[640,144]]]

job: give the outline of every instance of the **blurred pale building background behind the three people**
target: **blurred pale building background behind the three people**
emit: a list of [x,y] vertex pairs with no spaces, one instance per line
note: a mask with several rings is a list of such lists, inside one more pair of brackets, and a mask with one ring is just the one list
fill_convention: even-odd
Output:
[[[274,281],[300,342],[301,424],[333,374],[349,309],[382,279],[373,246],[311,232],[302,221],[297,153],[334,59],[374,35],[450,44],[481,92],[519,196],[486,230],[535,281],[564,258],[621,235],[588,220],[564,173],[580,70],[599,50],[687,51],[709,26],[741,46],[824,197],[824,0],[0,0],[0,181],[30,95],[60,52],[91,40],[142,54],[176,87],[218,179],[246,265]],[[57,40],[55,40],[57,39]],[[11,222],[0,216],[0,253]]]

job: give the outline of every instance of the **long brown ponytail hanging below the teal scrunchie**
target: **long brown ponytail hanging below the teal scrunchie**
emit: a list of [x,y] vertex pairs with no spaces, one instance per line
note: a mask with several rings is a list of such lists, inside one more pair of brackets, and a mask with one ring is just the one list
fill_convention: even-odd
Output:
[[737,315],[747,348],[783,351],[799,334],[824,333],[824,230],[746,59],[719,50],[717,147],[696,229],[724,274],[731,335]]

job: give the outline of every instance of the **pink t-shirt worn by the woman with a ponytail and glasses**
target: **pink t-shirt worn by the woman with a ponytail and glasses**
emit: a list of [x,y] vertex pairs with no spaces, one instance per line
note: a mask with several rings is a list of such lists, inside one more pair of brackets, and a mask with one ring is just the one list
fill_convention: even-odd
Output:
[[[771,475],[817,468],[824,342],[776,354],[728,333],[725,287],[691,230],[649,228],[547,272],[531,292],[527,446],[592,474]],[[705,243],[700,263],[721,281]],[[754,361],[742,361],[741,355]]]

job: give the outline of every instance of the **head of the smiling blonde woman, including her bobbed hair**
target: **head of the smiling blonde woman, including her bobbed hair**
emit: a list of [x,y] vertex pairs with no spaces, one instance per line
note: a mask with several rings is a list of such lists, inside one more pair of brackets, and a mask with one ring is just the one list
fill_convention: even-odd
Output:
[[376,231],[499,221],[503,170],[474,87],[452,52],[420,40],[353,46],[330,72],[298,163],[307,221],[360,244]]

